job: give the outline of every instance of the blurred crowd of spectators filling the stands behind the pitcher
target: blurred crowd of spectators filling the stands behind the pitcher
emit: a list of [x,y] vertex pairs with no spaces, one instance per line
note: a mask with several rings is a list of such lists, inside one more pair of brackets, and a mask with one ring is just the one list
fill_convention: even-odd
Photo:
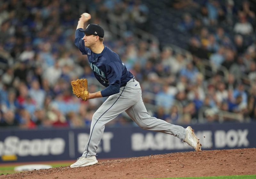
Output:
[[[224,3],[223,3],[224,2]],[[142,86],[151,115],[173,124],[256,119],[255,1],[173,1],[184,12],[177,26],[189,34],[185,53],[135,39],[133,29],[153,26],[151,6],[140,0],[6,0],[0,3],[0,127],[88,127],[105,98],[86,102],[70,81],[93,77],[74,45],[80,14],[102,24],[104,44],[123,60]],[[196,14],[187,10],[195,8]],[[108,25],[124,23],[123,35]],[[166,22],[168,23],[168,22]],[[228,24],[232,31],[223,28]],[[161,33],[161,32],[155,32]],[[89,91],[102,89],[89,83]],[[221,114],[221,115],[220,115]],[[120,115],[108,125],[127,125]]]

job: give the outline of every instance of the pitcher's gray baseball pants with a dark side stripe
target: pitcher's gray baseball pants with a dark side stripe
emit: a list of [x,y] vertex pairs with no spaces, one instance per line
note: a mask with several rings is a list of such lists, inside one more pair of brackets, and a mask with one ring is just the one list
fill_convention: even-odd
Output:
[[84,148],[83,157],[96,155],[105,124],[126,112],[143,129],[154,130],[177,136],[184,140],[185,128],[151,117],[142,101],[140,83],[132,78],[120,92],[108,97],[92,116],[89,140]]

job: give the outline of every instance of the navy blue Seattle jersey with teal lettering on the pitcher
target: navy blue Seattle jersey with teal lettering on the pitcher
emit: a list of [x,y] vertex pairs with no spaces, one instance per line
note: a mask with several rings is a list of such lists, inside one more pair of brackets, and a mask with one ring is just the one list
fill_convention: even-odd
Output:
[[75,37],[75,45],[83,55],[87,55],[96,79],[103,86],[113,85],[120,88],[133,78],[133,75],[126,69],[120,57],[107,46],[104,45],[104,50],[100,54],[93,53],[91,49],[84,45],[83,32],[77,29]]

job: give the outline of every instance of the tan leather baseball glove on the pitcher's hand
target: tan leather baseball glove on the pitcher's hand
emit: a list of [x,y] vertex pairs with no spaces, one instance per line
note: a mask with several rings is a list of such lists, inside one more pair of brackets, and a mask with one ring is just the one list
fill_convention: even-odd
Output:
[[89,91],[87,89],[87,79],[77,79],[71,82],[73,93],[79,98],[81,97],[86,101],[89,97]]

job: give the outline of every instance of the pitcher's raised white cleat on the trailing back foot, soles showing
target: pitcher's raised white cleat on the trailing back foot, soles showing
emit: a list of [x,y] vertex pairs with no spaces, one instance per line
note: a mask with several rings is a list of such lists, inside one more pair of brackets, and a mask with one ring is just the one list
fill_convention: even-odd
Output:
[[199,139],[196,137],[194,130],[190,126],[188,126],[185,130],[186,137],[183,141],[186,142],[191,147],[194,147],[196,151],[201,151],[202,145],[200,144]]

